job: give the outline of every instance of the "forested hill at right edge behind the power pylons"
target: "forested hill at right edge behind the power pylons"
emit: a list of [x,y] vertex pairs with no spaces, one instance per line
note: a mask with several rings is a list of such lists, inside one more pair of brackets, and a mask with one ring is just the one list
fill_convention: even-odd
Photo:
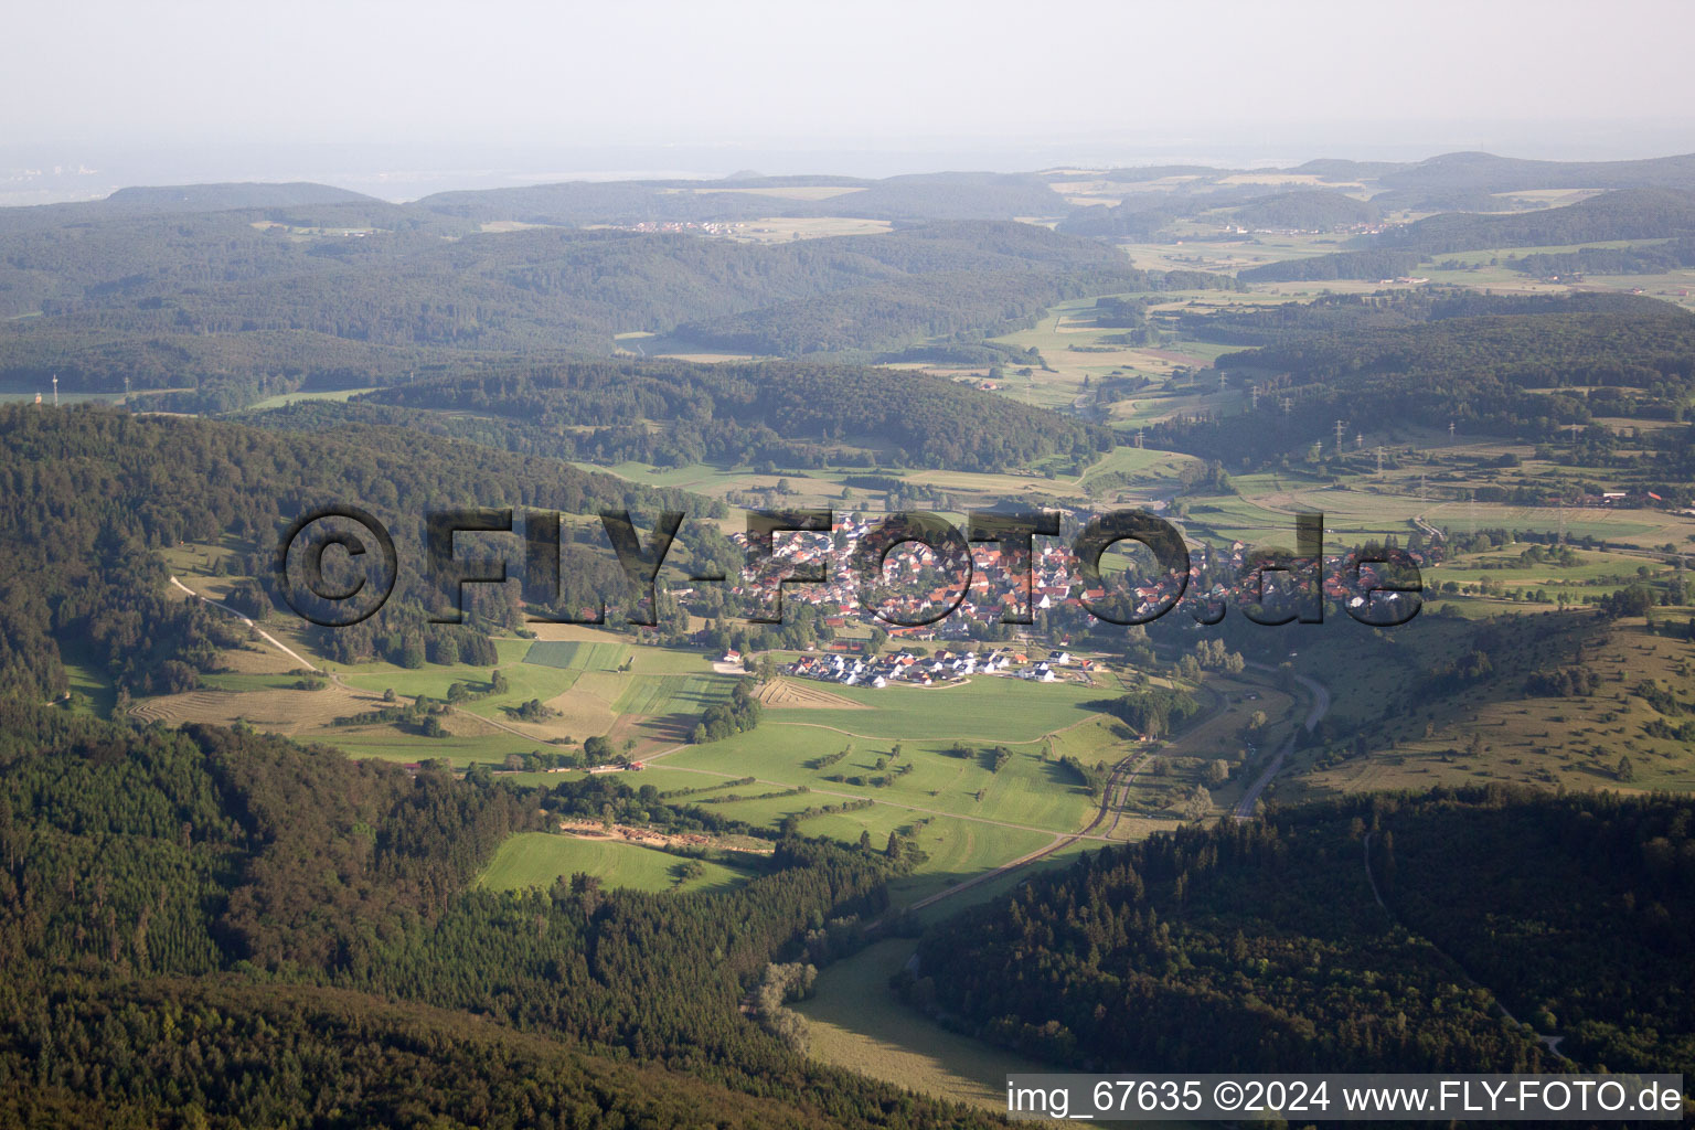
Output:
[[[1597,415],[1680,420],[1695,390],[1695,315],[1651,298],[1463,296],[1400,310],[1371,300],[1231,315],[1225,341],[1271,341],[1219,357],[1259,410],[1180,418],[1159,446],[1234,464],[1303,452],[1337,418],[1542,442]],[[1307,332],[1302,310],[1312,312]],[[1424,320],[1429,317],[1431,320]],[[1288,398],[1288,410],[1280,403]],[[1668,439],[1685,437],[1675,429]]]

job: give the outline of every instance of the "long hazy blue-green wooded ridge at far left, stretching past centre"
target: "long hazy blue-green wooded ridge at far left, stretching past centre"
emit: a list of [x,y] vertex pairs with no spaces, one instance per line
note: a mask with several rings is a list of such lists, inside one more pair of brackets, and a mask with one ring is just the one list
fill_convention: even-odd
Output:
[[188,386],[159,402],[171,410],[386,381],[453,354],[610,354],[632,330],[761,354],[975,339],[1142,281],[1115,249],[1012,222],[756,246],[476,232],[380,202],[71,215],[0,213],[0,381]]

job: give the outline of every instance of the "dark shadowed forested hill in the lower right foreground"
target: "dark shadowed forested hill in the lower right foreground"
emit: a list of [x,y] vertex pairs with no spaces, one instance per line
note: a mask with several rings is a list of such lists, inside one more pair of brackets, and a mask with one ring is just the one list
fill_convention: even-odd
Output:
[[1190,828],[932,927],[905,993],[1086,1071],[1556,1069],[1500,1000],[1583,1069],[1688,1072],[1692,830],[1683,798],[1500,789]]

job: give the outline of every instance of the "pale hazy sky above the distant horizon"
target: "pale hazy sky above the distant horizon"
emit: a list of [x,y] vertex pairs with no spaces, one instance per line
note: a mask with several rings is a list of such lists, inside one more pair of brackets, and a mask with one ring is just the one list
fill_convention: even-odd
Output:
[[56,164],[1695,151],[1687,0],[54,0],[7,25],[0,147]]

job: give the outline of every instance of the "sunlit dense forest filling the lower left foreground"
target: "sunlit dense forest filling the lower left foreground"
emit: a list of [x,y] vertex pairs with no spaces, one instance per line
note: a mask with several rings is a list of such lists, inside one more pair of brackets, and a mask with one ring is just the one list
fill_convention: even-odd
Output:
[[0,1123],[988,1125],[737,1011],[809,922],[880,908],[880,856],[786,840],[717,896],[471,889],[578,803],[636,795],[0,695]]

